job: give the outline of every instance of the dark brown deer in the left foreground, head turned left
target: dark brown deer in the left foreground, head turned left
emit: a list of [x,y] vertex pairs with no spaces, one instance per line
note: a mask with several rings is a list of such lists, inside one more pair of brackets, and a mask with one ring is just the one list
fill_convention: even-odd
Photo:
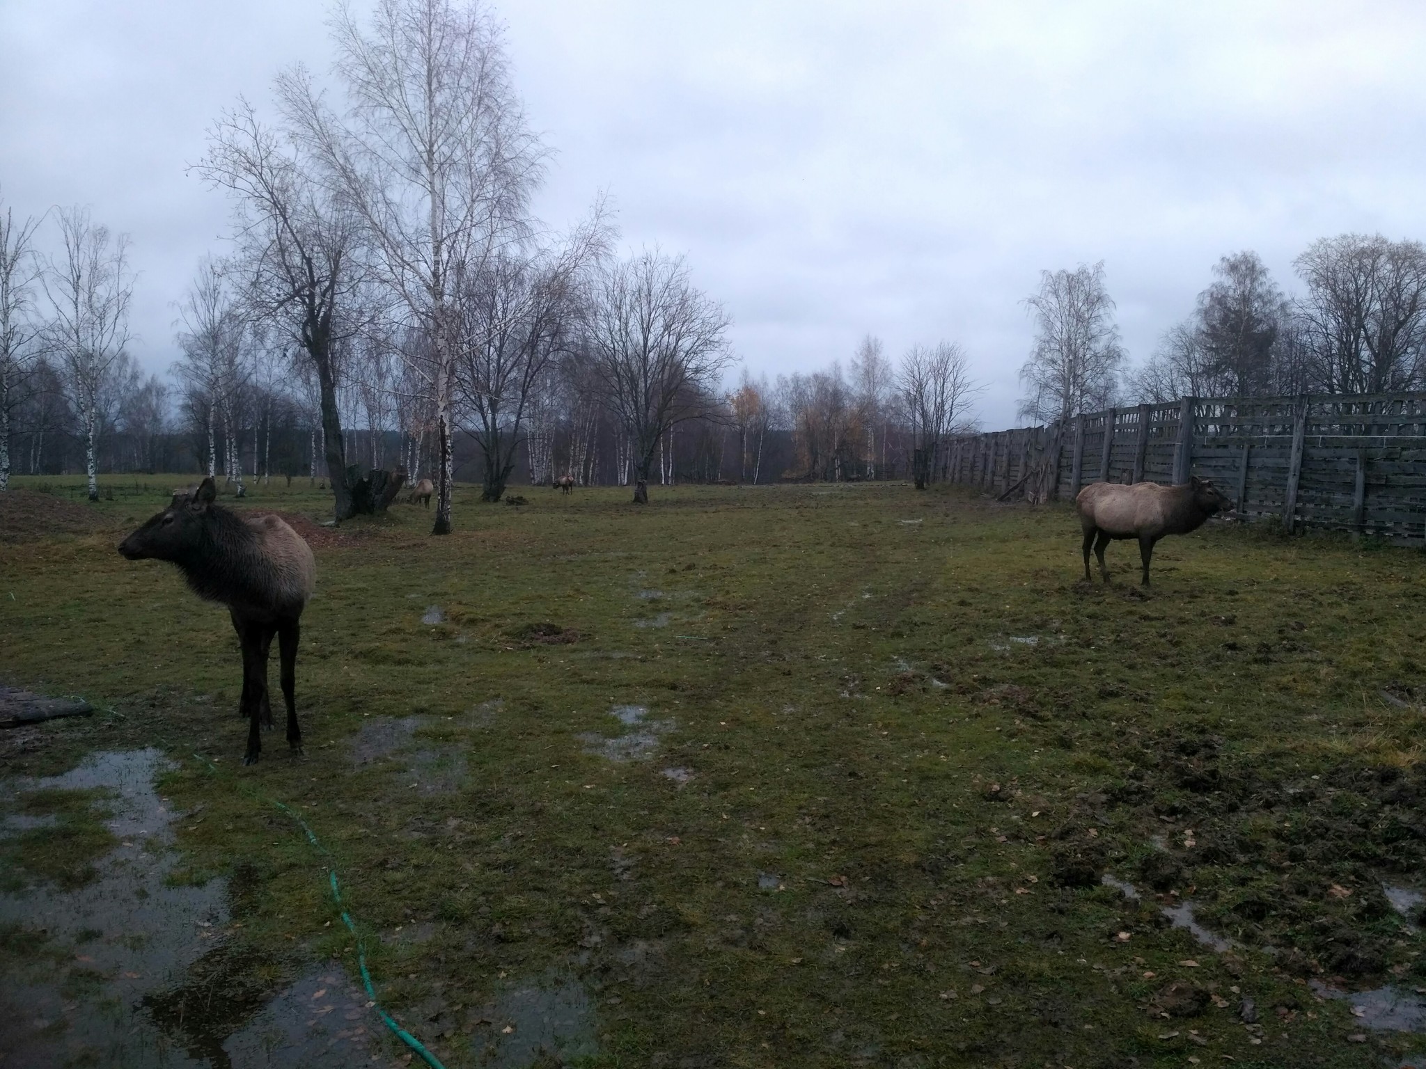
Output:
[[272,725],[267,661],[272,636],[281,656],[287,701],[287,741],[302,753],[297,725],[297,643],[299,620],[317,584],[317,562],[302,536],[277,516],[238,516],[214,505],[217,487],[204,479],[191,496],[173,503],[121,543],[130,560],[177,564],[198,597],[228,607],[242,646],[242,697],[238,714],[248,720],[248,753],[254,764],[262,750],[258,725]]

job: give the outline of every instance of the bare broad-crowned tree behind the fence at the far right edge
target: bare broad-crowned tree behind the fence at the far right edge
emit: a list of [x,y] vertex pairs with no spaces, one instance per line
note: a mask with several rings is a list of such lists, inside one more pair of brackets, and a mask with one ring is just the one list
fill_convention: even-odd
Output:
[[1329,393],[1410,389],[1426,361],[1426,247],[1380,234],[1315,241],[1295,261],[1313,379]]

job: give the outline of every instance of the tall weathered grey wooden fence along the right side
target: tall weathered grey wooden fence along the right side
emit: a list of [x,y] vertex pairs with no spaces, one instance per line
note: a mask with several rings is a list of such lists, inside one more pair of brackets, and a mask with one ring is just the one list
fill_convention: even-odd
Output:
[[951,439],[938,475],[1002,500],[1211,477],[1249,519],[1426,537],[1426,393],[1184,398]]

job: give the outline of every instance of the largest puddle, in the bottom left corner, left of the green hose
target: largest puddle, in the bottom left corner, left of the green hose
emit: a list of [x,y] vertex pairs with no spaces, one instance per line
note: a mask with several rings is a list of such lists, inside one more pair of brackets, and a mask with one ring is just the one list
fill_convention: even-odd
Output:
[[[201,1066],[134,1006],[177,985],[211,951],[228,919],[222,879],[170,887],[174,814],[154,791],[158,750],[91,754],[64,775],[11,781],[17,790],[110,792],[120,845],[97,875],[63,891],[44,884],[0,895],[0,924],[43,941],[0,964],[0,1048],[10,1065]],[[56,955],[56,956],[50,956]],[[63,962],[63,964],[58,964]],[[83,992],[83,993],[78,993]]]

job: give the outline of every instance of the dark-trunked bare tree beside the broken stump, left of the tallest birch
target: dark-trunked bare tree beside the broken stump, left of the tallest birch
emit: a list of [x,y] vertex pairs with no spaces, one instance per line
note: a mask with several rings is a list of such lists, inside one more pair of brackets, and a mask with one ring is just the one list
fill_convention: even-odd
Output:
[[[289,115],[288,125],[302,117]],[[354,308],[361,234],[341,195],[318,181],[302,141],[289,134],[262,125],[252,105],[240,100],[210,131],[208,154],[195,170],[234,200],[234,265],[251,314],[295,342],[294,353],[315,373],[325,466],[335,516],[344,520],[352,503],[337,353],[361,322]]]

